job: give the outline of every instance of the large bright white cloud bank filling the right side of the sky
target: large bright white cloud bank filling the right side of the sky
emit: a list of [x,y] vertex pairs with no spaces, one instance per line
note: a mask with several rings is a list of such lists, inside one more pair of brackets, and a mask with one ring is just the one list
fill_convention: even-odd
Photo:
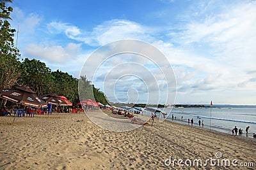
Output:
[[[223,6],[228,6],[228,10]],[[247,71],[254,70],[256,63],[256,3],[243,1],[227,6],[211,1],[203,3],[200,10],[196,7],[199,12],[186,17],[184,31],[170,33],[181,48],[166,46],[166,42],[157,44],[172,64],[177,64],[179,69],[183,67],[181,73],[177,67],[174,69],[178,87],[187,87],[187,92],[201,87],[209,76],[214,78],[211,81],[213,89],[254,90]],[[190,76],[189,82],[182,82],[184,73]]]

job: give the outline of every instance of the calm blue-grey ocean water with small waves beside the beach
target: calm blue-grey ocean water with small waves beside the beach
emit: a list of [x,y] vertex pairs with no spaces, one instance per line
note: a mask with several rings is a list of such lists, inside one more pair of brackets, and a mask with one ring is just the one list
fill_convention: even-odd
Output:
[[[236,126],[237,129],[243,129],[242,136],[246,136],[245,129],[250,126],[248,137],[253,138],[253,133],[256,133],[256,108],[164,108],[164,112],[170,113],[167,120],[182,124],[188,125],[188,118],[193,118],[193,125],[198,126],[200,119],[201,122],[204,120],[204,128],[210,129],[211,120],[211,129],[215,131],[232,134],[232,129]],[[158,113],[157,115],[159,117]]]

